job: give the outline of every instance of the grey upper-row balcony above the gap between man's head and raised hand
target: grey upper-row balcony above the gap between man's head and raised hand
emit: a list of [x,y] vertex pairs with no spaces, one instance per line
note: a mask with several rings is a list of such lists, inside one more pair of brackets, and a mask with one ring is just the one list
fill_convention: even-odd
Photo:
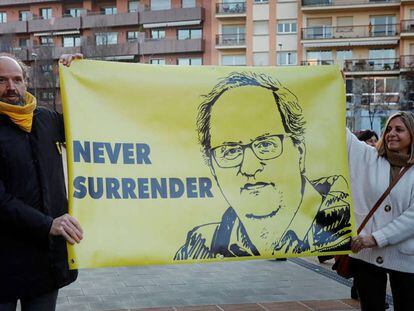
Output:
[[36,18],[28,22],[29,32],[57,32],[80,29],[80,17]]

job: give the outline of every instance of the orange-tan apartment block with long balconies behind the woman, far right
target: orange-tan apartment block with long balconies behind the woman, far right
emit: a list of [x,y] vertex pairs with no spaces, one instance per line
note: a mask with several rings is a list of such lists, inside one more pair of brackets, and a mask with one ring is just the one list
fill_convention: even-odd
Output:
[[413,108],[414,1],[303,0],[300,16],[302,64],[343,68],[351,127]]

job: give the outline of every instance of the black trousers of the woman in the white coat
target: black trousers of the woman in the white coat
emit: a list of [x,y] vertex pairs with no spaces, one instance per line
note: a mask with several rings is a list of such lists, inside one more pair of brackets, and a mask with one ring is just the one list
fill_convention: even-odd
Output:
[[381,268],[355,258],[351,258],[351,269],[362,311],[385,310],[387,274],[390,278],[394,310],[413,310],[414,273]]

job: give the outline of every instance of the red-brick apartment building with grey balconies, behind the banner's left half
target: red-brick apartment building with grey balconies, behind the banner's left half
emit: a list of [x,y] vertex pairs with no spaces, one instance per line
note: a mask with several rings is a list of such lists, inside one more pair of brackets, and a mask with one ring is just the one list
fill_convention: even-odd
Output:
[[150,64],[201,65],[201,0],[3,0],[0,50],[31,69],[31,91],[59,106],[56,61],[63,53]]

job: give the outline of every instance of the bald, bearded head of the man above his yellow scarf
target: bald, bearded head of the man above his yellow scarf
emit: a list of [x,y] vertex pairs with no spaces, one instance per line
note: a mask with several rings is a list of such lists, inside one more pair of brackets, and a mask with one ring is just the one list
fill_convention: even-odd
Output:
[[26,83],[19,64],[8,57],[0,58],[0,100],[12,105],[22,105]]

